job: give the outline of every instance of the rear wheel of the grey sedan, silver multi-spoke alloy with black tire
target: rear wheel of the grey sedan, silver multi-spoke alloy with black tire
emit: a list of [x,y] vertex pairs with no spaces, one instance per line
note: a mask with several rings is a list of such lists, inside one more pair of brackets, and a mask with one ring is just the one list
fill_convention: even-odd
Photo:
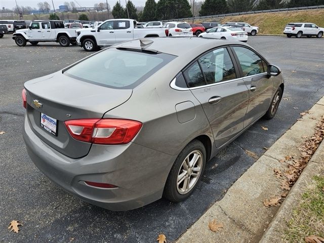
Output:
[[[206,165],[206,148],[193,140],[179,153],[169,173],[163,196],[170,201],[185,200],[194,191]],[[181,177],[179,179],[179,177]]]

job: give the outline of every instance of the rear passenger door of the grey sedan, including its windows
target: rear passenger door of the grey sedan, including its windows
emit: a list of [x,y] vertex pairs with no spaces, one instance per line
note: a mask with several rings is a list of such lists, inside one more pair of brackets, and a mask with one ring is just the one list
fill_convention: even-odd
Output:
[[210,122],[216,147],[221,147],[244,129],[249,91],[243,78],[237,78],[226,48],[199,57],[184,75]]

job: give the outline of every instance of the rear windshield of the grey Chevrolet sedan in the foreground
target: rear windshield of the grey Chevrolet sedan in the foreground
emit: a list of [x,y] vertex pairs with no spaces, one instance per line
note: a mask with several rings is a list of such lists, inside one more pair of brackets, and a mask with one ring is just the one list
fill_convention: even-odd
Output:
[[72,66],[64,74],[95,85],[132,89],[174,58],[165,53],[109,48]]

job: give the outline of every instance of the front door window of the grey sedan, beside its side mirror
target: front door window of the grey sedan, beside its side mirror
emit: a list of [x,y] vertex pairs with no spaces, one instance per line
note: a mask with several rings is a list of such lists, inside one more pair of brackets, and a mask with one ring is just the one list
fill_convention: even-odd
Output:
[[251,76],[263,73],[262,60],[255,52],[245,47],[233,47],[239,64],[243,71],[243,76]]

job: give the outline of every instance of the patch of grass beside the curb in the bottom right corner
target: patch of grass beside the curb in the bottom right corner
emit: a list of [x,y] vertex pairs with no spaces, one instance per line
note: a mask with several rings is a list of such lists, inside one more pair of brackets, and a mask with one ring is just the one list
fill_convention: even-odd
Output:
[[284,242],[303,242],[305,236],[324,237],[324,175],[313,177],[299,205],[294,208],[288,228],[283,235]]

